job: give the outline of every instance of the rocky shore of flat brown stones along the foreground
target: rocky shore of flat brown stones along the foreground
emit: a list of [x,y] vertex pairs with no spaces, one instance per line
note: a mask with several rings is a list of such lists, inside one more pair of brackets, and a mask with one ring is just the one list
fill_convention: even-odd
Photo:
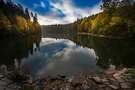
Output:
[[37,79],[21,73],[14,76],[0,73],[0,90],[135,90],[135,84],[127,78],[127,70]]

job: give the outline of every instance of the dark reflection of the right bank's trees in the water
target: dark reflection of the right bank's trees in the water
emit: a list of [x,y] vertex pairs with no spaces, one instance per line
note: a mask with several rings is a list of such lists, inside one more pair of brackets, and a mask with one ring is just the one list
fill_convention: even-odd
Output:
[[97,65],[102,68],[107,69],[111,64],[116,68],[131,67],[135,63],[135,43],[132,41],[78,35],[77,42],[95,50]]

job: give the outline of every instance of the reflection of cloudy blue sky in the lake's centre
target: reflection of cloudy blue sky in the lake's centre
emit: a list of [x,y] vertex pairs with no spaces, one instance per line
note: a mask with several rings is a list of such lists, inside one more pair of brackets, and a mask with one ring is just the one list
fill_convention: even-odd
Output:
[[40,51],[22,60],[33,76],[88,73],[98,70],[93,49],[83,48],[67,39],[42,38]]

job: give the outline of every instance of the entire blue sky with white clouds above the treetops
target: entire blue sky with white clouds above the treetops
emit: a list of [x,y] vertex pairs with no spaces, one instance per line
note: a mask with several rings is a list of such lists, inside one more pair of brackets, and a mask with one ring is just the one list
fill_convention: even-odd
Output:
[[99,13],[101,0],[13,0],[38,14],[39,23],[67,24]]

